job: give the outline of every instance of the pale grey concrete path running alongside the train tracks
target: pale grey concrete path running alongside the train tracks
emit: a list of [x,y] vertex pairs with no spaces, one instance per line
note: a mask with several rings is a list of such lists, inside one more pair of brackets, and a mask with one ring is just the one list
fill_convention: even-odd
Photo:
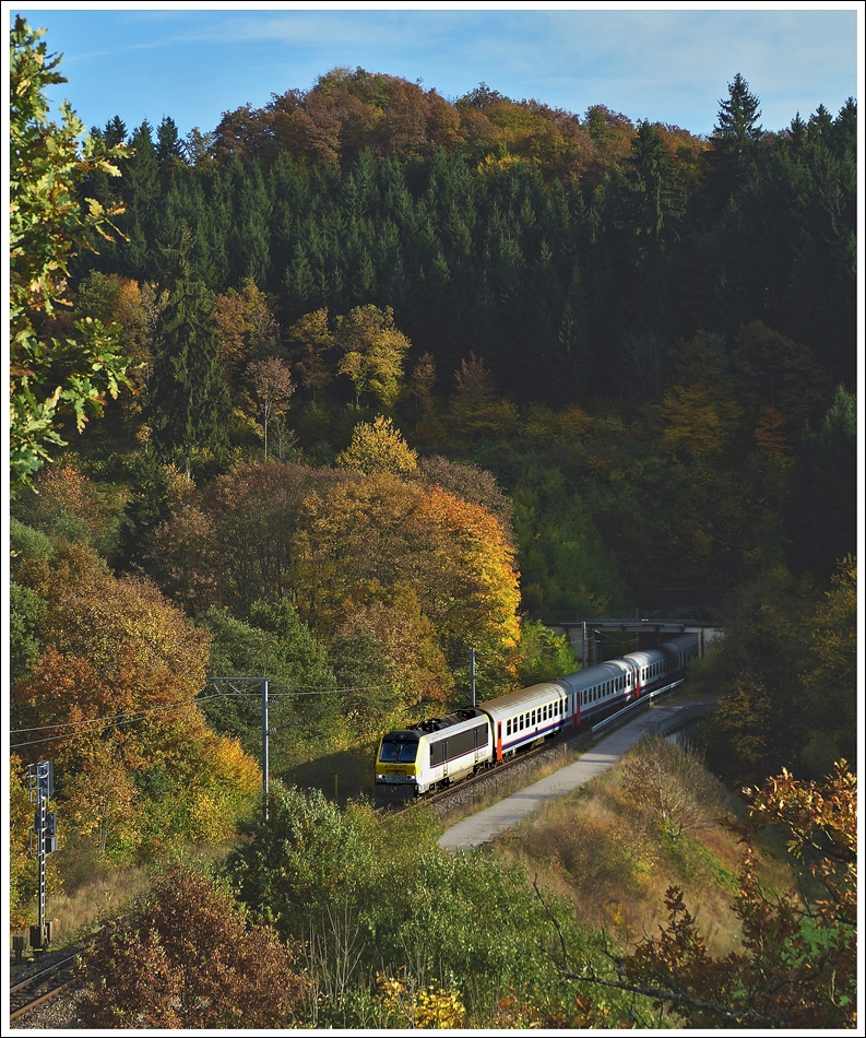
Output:
[[684,711],[693,710],[698,703],[700,700],[696,699],[665,703],[642,710],[634,720],[600,739],[579,760],[452,825],[442,835],[439,846],[444,850],[459,851],[486,844],[522,822],[542,804],[564,797],[579,786],[585,786],[596,775],[613,767],[619,757],[644,735],[675,728],[679,716]]

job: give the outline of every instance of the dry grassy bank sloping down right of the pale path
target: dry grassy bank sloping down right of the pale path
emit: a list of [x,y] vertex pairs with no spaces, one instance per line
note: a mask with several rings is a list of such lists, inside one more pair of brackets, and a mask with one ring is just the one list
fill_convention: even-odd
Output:
[[[610,771],[549,804],[497,842],[542,888],[569,897],[579,922],[624,942],[666,922],[664,894],[676,884],[714,954],[738,944],[731,901],[742,848],[720,824],[743,817],[744,804],[705,770],[691,750],[673,743],[636,746]],[[651,765],[650,760],[656,762]],[[761,878],[790,886],[781,844],[759,845]]]

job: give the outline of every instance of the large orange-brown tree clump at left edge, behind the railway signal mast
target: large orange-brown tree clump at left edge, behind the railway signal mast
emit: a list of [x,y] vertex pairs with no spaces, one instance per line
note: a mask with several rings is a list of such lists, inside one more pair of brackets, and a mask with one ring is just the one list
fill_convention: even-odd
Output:
[[55,762],[64,819],[100,854],[129,857],[149,834],[223,839],[259,772],[194,703],[207,635],[149,581],[114,577],[80,545],[24,575],[48,604],[47,648],[12,687],[14,742],[27,759]]

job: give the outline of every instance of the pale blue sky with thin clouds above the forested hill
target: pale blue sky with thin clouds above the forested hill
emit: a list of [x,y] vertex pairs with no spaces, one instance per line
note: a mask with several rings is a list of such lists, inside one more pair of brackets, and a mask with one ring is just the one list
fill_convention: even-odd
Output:
[[[308,90],[335,67],[385,72],[453,99],[485,82],[582,115],[595,104],[710,134],[739,72],[779,130],[858,96],[849,3],[35,3],[87,127],[170,116],[181,134],[224,111]],[[862,17],[862,14],[861,14]],[[861,32],[863,25],[861,24]]]

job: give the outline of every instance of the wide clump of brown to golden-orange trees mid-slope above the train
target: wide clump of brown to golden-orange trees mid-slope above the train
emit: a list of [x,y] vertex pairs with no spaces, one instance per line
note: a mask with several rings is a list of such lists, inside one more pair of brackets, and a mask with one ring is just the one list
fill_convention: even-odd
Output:
[[[474,644],[491,674],[513,675],[520,602],[513,546],[484,505],[458,496],[461,481],[468,495],[483,496],[483,474],[443,460],[413,477],[388,471],[412,460],[380,422],[360,429],[345,452],[344,463],[363,471],[235,465],[201,506],[187,503],[157,528],[152,571],[197,611],[286,598],[316,633],[376,601],[377,589],[405,586],[450,665]],[[501,506],[500,498],[495,494],[494,503]],[[221,566],[210,565],[217,557]]]

